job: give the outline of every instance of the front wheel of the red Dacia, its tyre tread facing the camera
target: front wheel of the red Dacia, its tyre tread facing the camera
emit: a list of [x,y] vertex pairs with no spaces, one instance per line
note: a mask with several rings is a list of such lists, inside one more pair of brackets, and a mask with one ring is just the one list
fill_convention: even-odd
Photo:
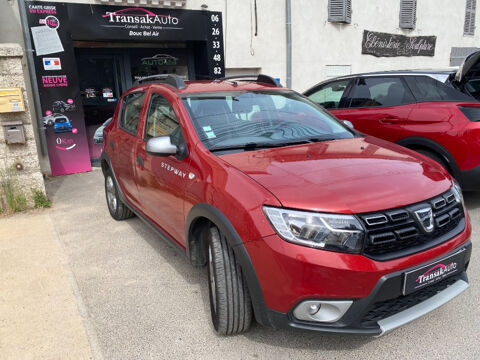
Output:
[[217,227],[208,237],[208,288],[215,330],[221,335],[247,331],[252,322],[252,303],[247,283],[233,249]]

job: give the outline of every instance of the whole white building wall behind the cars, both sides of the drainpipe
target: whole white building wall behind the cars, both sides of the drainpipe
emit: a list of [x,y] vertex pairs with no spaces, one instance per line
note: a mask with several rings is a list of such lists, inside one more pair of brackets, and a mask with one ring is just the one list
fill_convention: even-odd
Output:
[[[95,0],[70,2],[100,3]],[[415,30],[399,28],[400,0],[352,0],[351,24],[327,21],[328,0],[291,2],[292,87],[298,91],[324,80],[326,65],[351,65],[352,73],[446,68],[452,46],[480,47],[480,4],[476,35],[463,36],[466,0],[417,0]],[[260,68],[262,73],[279,77],[286,83],[285,0],[257,0],[257,37],[251,36],[254,31],[253,0],[187,0],[186,8],[198,10],[202,4],[208,5],[208,10],[223,13],[226,68]],[[411,36],[435,35],[435,56],[377,58],[362,55],[364,29]]]

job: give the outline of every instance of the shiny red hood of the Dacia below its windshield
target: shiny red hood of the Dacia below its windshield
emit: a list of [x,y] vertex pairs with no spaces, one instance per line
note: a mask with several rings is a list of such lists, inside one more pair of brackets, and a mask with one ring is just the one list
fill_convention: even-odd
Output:
[[373,137],[220,156],[268,189],[284,207],[362,213],[434,197],[451,186],[446,171]]

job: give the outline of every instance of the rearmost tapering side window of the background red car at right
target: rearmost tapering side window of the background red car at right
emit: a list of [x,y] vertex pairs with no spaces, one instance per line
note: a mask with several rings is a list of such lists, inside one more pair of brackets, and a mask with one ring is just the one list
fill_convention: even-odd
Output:
[[472,101],[472,97],[430,76],[405,76],[408,86],[418,102]]

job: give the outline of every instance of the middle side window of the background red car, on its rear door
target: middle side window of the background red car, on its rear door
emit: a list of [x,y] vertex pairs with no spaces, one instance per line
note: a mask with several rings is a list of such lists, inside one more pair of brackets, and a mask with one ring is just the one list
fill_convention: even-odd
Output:
[[351,94],[350,107],[385,107],[414,103],[410,90],[399,77],[358,78]]

